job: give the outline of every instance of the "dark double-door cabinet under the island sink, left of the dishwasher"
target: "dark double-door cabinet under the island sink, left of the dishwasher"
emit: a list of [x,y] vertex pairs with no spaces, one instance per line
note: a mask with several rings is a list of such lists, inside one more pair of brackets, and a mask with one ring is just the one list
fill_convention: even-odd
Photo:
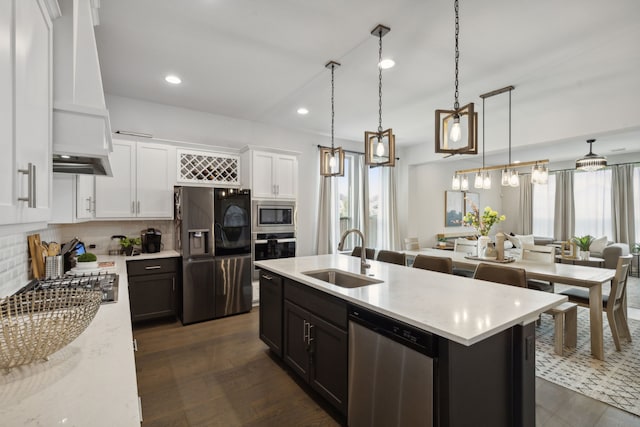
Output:
[[285,281],[283,357],[342,414],[347,413],[346,303]]

